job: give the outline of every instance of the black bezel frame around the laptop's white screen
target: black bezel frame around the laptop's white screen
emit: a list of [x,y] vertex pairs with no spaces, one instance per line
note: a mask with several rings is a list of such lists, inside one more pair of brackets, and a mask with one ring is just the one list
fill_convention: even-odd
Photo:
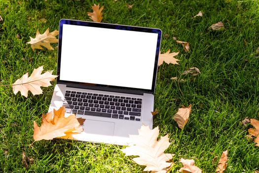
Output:
[[[143,88],[132,88],[132,87],[119,87],[119,86],[107,86],[100,84],[89,84],[89,83],[80,83],[80,82],[72,82],[72,81],[64,81],[60,80],[60,70],[61,70],[61,51],[62,51],[62,34],[63,34],[63,25],[78,25],[78,26],[89,26],[89,27],[98,27],[98,28],[107,28],[107,29],[116,29],[116,30],[128,30],[128,31],[139,31],[139,32],[147,32],[147,33],[156,33],[157,35],[157,45],[156,45],[156,53],[155,53],[155,61],[154,61],[154,70],[153,70],[153,79],[152,79],[152,87],[151,89],[143,89]],[[160,43],[161,43],[161,34],[162,31],[160,29],[154,28],[144,28],[144,27],[136,27],[136,26],[126,26],[126,25],[116,25],[116,24],[108,24],[108,23],[96,23],[96,22],[88,22],[88,21],[79,21],[79,20],[70,20],[70,19],[61,19],[59,22],[59,43],[58,43],[58,66],[57,66],[57,84],[67,84],[70,87],[79,87],[86,89],[95,89],[95,90],[106,90],[106,91],[116,91],[116,92],[125,92],[132,94],[143,94],[143,93],[152,93],[154,94],[155,83],[156,83],[156,74],[157,74],[157,64],[158,64],[158,56],[160,51]],[[73,70],[73,69],[71,69]]]

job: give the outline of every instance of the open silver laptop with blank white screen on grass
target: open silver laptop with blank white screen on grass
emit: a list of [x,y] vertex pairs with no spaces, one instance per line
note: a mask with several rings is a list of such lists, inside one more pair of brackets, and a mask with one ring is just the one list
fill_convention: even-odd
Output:
[[152,129],[161,30],[61,19],[57,85],[49,112],[85,119],[76,140],[128,145]]

